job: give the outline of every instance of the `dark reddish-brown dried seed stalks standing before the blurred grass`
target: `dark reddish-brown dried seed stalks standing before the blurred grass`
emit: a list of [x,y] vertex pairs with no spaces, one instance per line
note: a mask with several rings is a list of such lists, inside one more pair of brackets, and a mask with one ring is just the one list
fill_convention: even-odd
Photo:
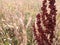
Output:
[[[47,13],[47,1],[49,1],[49,7],[50,13]],[[55,0],[43,0],[42,3],[42,14],[37,14],[37,22],[36,25],[38,27],[37,31],[38,34],[36,34],[36,27],[34,26],[34,35],[37,40],[38,45],[52,45],[53,43],[53,38],[54,38],[54,31],[55,31],[55,25],[56,25],[56,6]],[[42,18],[42,22],[41,19]],[[43,23],[43,26],[46,29],[43,29],[41,26],[41,23]],[[49,36],[49,38],[48,38]]]

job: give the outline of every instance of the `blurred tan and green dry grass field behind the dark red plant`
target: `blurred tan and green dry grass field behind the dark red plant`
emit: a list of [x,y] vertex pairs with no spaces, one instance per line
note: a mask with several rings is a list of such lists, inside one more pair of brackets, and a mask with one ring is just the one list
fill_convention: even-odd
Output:
[[[56,0],[56,31],[53,45],[60,45],[60,1]],[[0,45],[37,45],[32,26],[41,13],[42,0],[0,0]],[[23,29],[24,28],[24,29]]]

